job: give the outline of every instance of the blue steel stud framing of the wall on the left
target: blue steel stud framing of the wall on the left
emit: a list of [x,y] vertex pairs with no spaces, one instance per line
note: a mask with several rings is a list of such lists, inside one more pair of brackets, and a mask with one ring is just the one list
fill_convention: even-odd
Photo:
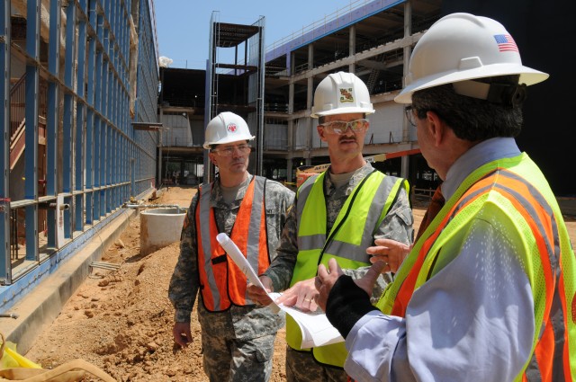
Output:
[[[12,0],[14,1],[14,0]],[[148,0],[139,7],[139,75],[130,84],[130,14],[127,0],[61,0],[49,2],[49,65],[40,65],[40,0],[27,3],[24,198],[16,207],[25,209],[26,260],[32,265],[13,277],[10,259],[10,65],[11,0],[0,0],[0,310],[13,306],[60,262],[73,256],[104,224],[117,218],[130,196],[150,191],[155,179],[155,137],[135,132],[131,120],[157,119],[157,49],[153,14]],[[101,12],[102,10],[102,12]],[[60,13],[67,17],[66,50],[60,57]],[[77,38],[76,38],[77,36]],[[63,76],[58,72],[63,62]],[[76,66],[75,66],[76,62]],[[143,67],[143,69],[141,69]],[[48,80],[46,114],[47,195],[39,198],[40,77]],[[135,116],[130,116],[130,86],[136,86]],[[59,94],[63,93],[63,99]],[[63,106],[60,103],[63,103]],[[42,104],[43,106],[43,104]],[[58,124],[62,120],[60,132]],[[62,134],[58,137],[58,134]],[[62,143],[58,147],[58,142]],[[59,160],[61,155],[61,162]],[[61,165],[61,167],[59,167]],[[58,178],[59,177],[59,178]],[[61,190],[58,187],[61,186]],[[39,249],[39,203],[64,197],[70,209],[48,210],[48,247]],[[3,205],[4,202],[4,205]],[[12,200],[14,203],[14,200]],[[61,212],[61,214],[60,214]],[[66,245],[58,241],[57,226],[64,222]]]

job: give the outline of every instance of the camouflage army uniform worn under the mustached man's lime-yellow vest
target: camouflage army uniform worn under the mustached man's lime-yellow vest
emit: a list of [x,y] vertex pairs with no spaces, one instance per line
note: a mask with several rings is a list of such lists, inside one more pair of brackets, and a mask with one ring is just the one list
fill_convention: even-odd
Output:
[[[365,176],[373,170],[372,164],[365,164],[365,166],[354,174],[346,186],[338,189],[336,189],[330,181],[329,176],[324,178],[328,232],[334,225],[338,213],[346,202],[348,195],[354,191],[356,184],[361,182]],[[297,203],[298,201],[296,200],[294,208],[291,209],[288,215],[288,221],[284,226],[280,246],[276,249],[276,258],[265,272],[266,276],[272,280],[275,291],[288,289],[293,277],[296,257],[298,255],[298,235],[296,230],[299,217],[296,215],[296,211],[298,210],[296,208]],[[410,208],[408,193],[405,190],[401,190],[398,199],[394,201],[390,211],[383,219],[381,226],[376,230],[374,239],[387,238],[405,244],[411,244],[413,239],[412,223],[412,209]],[[353,279],[359,279],[365,275],[369,268],[370,267],[363,267],[356,270],[345,269],[343,271]],[[390,273],[386,273],[378,278],[372,297],[374,302],[382,295],[384,287],[390,281],[392,281],[392,275]],[[347,375],[344,369],[321,365],[313,359],[310,351],[295,351],[290,348],[290,346],[287,346],[286,349],[286,377],[289,382],[347,381]]]

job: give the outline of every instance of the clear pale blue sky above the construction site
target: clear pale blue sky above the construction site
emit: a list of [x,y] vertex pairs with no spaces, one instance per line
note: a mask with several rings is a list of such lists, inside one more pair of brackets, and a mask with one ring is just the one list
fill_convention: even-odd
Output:
[[[205,69],[210,39],[210,20],[250,25],[265,17],[265,51],[275,41],[302,28],[369,0],[154,0],[158,57],[172,59],[169,67]],[[343,9],[344,8],[344,9]],[[234,49],[218,49],[218,62],[232,62]]]

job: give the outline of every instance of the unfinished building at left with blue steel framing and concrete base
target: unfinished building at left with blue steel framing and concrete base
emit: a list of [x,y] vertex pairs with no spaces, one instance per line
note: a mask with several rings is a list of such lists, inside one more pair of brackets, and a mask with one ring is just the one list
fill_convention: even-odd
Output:
[[155,186],[154,4],[3,0],[0,31],[0,312],[38,302],[0,330],[25,351]]

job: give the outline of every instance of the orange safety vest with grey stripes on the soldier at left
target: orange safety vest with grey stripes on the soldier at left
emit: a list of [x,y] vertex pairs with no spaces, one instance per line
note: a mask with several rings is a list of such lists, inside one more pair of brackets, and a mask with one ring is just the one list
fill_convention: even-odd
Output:
[[[216,235],[220,233],[210,206],[213,182],[198,191],[195,220],[198,242],[198,272],[204,307],[221,312],[230,306],[252,305],[247,298],[247,278],[235,262],[229,260]],[[270,265],[266,234],[266,178],[254,176],[240,203],[230,238],[247,256],[258,274]],[[261,200],[260,203],[255,200]]]

